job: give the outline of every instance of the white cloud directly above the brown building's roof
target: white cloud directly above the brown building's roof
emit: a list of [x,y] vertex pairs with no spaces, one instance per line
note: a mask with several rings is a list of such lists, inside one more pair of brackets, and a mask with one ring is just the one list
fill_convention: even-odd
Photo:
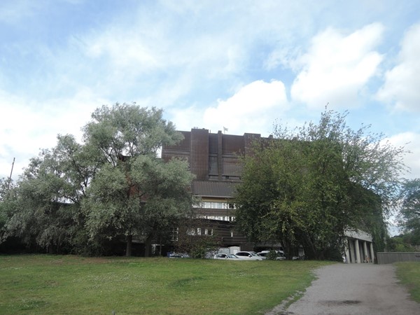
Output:
[[219,99],[217,106],[206,109],[203,123],[214,132],[223,127],[232,134],[269,132],[275,118],[288,107],[286,89],[281,81],[257,80],[241,87],[232,97]]

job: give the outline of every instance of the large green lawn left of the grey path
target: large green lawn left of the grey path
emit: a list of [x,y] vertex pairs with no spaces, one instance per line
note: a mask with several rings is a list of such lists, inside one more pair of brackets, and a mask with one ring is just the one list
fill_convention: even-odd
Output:
[[0,255],[0,314],[261,314],[326,264]]

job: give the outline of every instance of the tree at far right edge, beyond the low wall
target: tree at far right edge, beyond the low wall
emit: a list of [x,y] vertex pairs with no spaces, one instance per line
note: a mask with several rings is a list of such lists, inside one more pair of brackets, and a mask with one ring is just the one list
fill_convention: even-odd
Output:
[[400,227],[409,235],[411,244],[420,244],[420,179],[407,180],[402,185],[400,197]]

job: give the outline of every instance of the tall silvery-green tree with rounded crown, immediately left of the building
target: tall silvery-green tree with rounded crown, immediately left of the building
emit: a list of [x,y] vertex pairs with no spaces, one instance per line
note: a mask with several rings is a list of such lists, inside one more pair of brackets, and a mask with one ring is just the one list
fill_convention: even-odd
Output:
[[102,106],[84,131],[86,146],[103,162],[83,200],[90,239],[125,236],[131,255],[132,238],[143,238],[148,255],[155,232],[191,210],[188,163],[156,155],[182,135],[161,110],[135,104]]

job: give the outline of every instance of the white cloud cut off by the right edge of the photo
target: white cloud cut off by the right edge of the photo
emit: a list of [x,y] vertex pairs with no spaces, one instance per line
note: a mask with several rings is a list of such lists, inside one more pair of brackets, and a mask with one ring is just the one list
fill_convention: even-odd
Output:
[[412,26],[401,43],[398,64],[386,71],[377,93],[382,102],[396,109],[420,112],[420,24]]

